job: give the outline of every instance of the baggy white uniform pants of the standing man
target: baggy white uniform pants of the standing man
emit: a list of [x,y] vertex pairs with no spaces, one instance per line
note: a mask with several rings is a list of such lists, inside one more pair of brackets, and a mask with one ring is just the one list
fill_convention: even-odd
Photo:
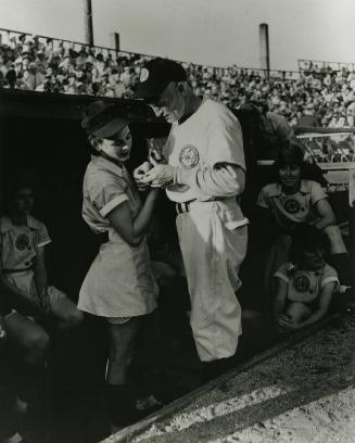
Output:
[[248,219],[234,199],[193,202],[177,216],[191,300],[190,324],[202,362],[230,357],[241,334],[236,291],[246,253]]

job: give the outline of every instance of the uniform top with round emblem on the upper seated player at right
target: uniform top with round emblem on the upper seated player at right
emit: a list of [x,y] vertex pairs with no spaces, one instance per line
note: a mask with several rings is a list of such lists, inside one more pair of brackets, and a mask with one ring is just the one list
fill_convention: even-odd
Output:
[[301,180],[294,194],[283,193],[281,183],[266,185],[256,204],[271,211],[281,229],[290,230],[300,223],[316,223],[319,217],[315,204],[321,199],[327,199],[327,194],[317,181]]

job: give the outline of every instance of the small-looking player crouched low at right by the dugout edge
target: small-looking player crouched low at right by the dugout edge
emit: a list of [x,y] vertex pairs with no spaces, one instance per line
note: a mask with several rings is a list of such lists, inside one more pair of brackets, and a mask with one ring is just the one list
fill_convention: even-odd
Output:
[[283,263],[274,275],[274,319],[280,332],[304,328],[326,316],[339,287],[335,269],[325,261],[328,243],[327,235],[313,225],[295,229],[291,262]]

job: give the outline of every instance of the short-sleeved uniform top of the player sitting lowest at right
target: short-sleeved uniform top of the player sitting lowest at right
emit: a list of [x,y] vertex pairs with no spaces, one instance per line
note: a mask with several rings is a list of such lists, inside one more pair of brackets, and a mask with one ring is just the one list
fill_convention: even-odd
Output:
[[274,276],[288,283],[287,299],[290,302],[302,302],[314,308],[326,284],[333,281],[337,287],[339,286],[337,270],[327,263],[316,271],[304,269],[288,271],[288,268],[289,263],[284,263]]

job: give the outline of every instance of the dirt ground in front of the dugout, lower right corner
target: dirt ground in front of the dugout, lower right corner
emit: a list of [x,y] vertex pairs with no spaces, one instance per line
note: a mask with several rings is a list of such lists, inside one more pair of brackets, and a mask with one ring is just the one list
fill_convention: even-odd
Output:
[[[135,436],[112,442],[355,442],[355,317],[234,374]],[[123,435],[123,434],[122,434]]]

